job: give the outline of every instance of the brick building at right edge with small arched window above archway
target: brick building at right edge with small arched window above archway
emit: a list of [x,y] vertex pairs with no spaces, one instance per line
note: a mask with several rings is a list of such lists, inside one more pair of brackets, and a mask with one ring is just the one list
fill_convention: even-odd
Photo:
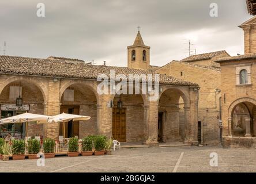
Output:
[[221,66],[223,145],[256,148],[256,17],[239,27],[245,54],[216,60]]

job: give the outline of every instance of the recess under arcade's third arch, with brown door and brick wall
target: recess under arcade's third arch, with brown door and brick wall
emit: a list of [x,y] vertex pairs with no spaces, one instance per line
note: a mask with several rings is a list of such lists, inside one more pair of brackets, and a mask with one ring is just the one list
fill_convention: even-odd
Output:
[[[122,108],[118,107],[121,97]],[[146,95],[115,94],[111,96],[112,137],[122,142],[138,142],[145,140]]]

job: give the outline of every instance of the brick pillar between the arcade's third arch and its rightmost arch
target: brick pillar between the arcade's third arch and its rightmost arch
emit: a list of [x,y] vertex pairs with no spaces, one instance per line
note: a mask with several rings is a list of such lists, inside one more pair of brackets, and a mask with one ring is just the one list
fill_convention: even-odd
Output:
[[157,144],[158,141],[158,101],[149,101],[147,110],[148,140],[146,144]]

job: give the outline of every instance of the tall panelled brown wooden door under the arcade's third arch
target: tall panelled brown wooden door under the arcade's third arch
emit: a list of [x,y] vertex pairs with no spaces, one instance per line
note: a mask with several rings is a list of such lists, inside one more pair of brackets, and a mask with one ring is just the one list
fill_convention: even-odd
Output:
[[113,108],[112,137],[119,142],[126,142],[126,108]]

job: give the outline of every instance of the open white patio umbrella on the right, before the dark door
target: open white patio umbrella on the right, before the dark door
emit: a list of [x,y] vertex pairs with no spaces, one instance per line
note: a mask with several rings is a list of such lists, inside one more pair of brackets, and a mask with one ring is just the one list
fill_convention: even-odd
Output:
[[[58,114],[56,116],[52,116],[48,122],[67,122],[70,120],[73,121],[86,121],[89,120],[91,117],[90,116],[81,116],[81,115],[76,115],[76,114]],[[65,124],[63,123],[63,136],[65,138]]]

